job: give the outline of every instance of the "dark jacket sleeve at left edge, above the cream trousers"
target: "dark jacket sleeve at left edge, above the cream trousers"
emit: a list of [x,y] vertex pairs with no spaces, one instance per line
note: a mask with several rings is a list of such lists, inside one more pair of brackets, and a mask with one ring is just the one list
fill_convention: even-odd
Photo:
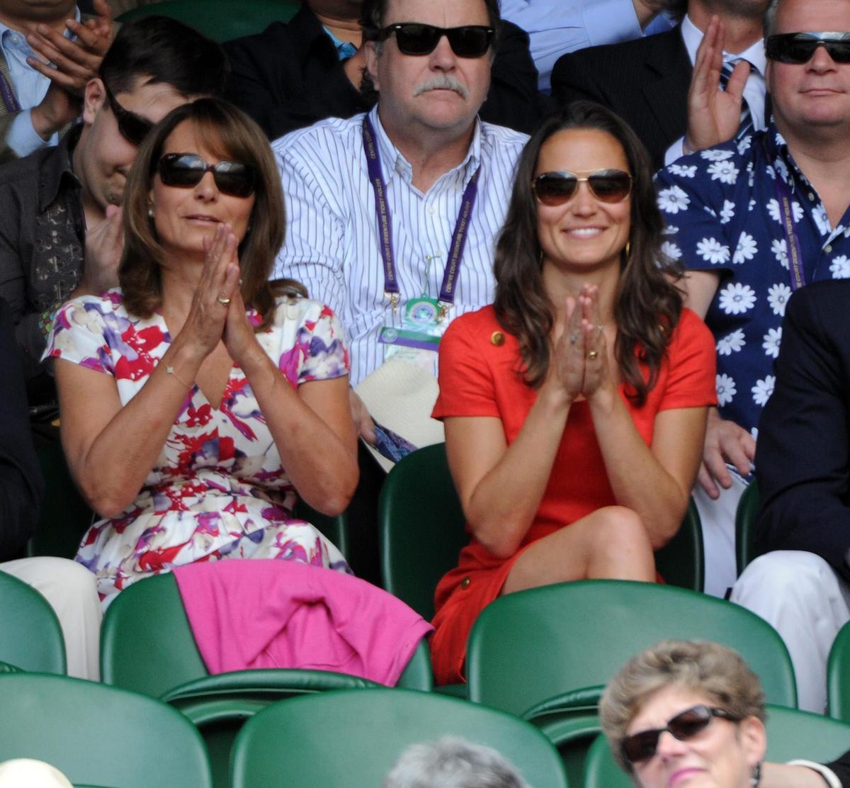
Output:
[[42,497],[32,448],[20,357],[8,305],[0,298],[0,561],[16,558],[30,538]]

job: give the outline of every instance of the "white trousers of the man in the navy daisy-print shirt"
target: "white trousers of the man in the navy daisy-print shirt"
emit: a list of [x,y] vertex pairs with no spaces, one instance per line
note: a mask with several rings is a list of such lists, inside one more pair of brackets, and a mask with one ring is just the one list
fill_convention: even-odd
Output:
[[728,490],[717,485],[720,497],[712,500],[697,483],[691,490],[700,513],[702,544],[706,557],[706,579],[703,591],[724,598],[738,576],[735,565],[735,513],[747,483],[730,468],[732,486]]

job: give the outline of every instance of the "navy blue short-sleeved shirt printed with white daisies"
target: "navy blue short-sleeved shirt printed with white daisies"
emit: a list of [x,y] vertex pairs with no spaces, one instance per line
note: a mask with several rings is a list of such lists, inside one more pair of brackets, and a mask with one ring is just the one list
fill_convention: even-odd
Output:
[[776,179],[788,184],[805,281],[850,278],[850,216],[830,226],[824,203],[773,124],[683,156],[655,176],[663,251],[686,269],[717,271],[706,324],[717,343],[717,403],[757,434],[774,391],[774,359],[791,298]]

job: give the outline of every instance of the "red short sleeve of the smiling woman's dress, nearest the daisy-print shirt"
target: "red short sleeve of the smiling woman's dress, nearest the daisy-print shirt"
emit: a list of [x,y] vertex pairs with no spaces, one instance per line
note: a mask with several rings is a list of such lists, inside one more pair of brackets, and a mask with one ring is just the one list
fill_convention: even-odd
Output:
[[717,405],[714,337],[690,309],[682,310],[667,358],[669,371],[660,411]]

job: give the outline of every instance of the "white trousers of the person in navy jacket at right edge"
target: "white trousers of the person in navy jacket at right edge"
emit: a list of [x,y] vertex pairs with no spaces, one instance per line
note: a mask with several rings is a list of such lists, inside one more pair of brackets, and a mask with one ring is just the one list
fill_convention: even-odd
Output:
[[732,601],[779,632],[794,664],[797,705],[823,714],[826,660],[838,630],[850,621],[850,587],[823,558],[778,550],[756,558],[732,589]]

